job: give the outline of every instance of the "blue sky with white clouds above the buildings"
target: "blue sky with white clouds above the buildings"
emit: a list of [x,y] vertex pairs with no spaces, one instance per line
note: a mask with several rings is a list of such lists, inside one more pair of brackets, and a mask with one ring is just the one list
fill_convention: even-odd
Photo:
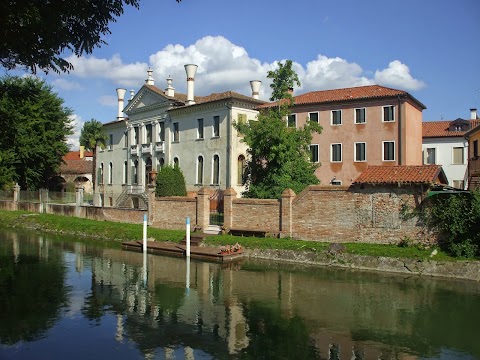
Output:
[[115,120],[116,88],[128,99],[150,67],[158,88],[171,76],[186,93],[189,63],[198,65],[200,96],[250,95],[249,81],[261,80],[268,100],[267,72],[290,59],[295,94],[378,84],[422,102],[424,121],[480,110],[479,0],[140,0],[110,30],[92,54],[65,54],[69,74],[37,73],[73,110],[72,150],[85,121]]

